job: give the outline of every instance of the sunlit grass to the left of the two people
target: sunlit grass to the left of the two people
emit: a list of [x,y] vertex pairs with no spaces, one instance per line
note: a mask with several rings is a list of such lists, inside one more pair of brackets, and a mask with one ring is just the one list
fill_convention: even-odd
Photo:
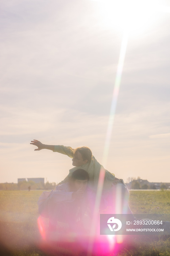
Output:
[[16,256],[40,255],[33,254],[31,248],[40,238],[37,201],[41,193],[0,191],[0,240],[1,248],[4,247],[3,253]]

